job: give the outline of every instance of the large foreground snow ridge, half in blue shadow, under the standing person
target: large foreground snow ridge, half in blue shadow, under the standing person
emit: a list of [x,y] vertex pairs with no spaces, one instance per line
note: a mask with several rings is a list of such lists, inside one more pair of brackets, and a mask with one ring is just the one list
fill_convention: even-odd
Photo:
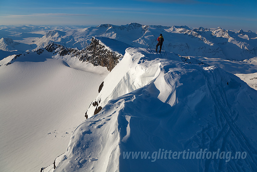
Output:
[[[80,123],[66,152],[43,171],[256,171],[256,98],[256,90],[219,67],[172,52],[129,48],[90,105],[92,117]],[[93,116],[89,111],[97,106],[102,110]],[[220,149],[247,156],[123,157],[127,151],[159,149]]]

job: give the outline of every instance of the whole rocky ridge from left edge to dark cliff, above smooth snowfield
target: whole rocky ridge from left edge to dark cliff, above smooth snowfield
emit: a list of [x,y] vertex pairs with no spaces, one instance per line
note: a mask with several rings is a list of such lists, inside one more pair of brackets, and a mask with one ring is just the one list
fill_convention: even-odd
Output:
[[[23,56],[25,56],[23,57],[25,59],[34,58],[35,53],[40,55],[44,51],[46,51],[47,53],[49,52],[49,58],[51,57],[54,59],[63,59],[65,62],[73,63],[73,65],[75,66],[81,66],[80,63],[89,62],[93,64],[93,66],[106,67],[109,71],[111,71],[114,66],[119,62],[119,60],[123,57],[120,53],[114,52],[101,41],[93,37],[89,46],[82,50],[79,50],[77,48],[67,48],[60,44],[52,42],[43,49],[37,49],[36,51],[31,52],[32,55],[28,55],[29,52],[27,52],[26,54],[8,56],[0,60],[0,66],[7,66],[16,61],[24,61],[24,59],[22,59]],[[56,53],[57,55],[55,55]],[[38,59],[41,60],[41,58]],[[36,58],[34,60],[38,61],[38,59]],[[74,64],[74,62],[76,64]]]

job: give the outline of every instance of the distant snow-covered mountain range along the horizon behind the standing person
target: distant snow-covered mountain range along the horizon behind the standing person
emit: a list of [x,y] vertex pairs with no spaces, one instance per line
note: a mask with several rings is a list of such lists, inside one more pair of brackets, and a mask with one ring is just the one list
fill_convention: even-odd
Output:
[[[166,50],[179,53],[182,56],[206,56],[232,60],[244,60],[257,56],[255,43],[257,34],[242,29],[235,32],[220,27],[217,29],[204,29],[202,27],[190,29],[187,26],[148,26],[138,23],[122,26],[105,24],[83,29],[49,29],[41,29],[40,32],[33,32],[33,29],[30,29],[34,36],[38,36],[39,34],[36,33],[43,31],[45,35],[34,39],[31,37],[31,39],[23,38],[20,40],[20,38],[19,42],[26,42],[29,45],[35,44],[37,46],[35,49],[44,48],[50,42],[65,47],[83,49],[90,43],[92,36],[99,36],[121,41],[130,46],[154,48],[156,38],[162,33],[165,38],[164,47]],[[3,27],[1,30],[5,30],[6,37],[13,37],[11,29],[9,31]],[[234,49],[234,51],[230,52],[228,49]],[[27,49],[20,50],[26,51]]]

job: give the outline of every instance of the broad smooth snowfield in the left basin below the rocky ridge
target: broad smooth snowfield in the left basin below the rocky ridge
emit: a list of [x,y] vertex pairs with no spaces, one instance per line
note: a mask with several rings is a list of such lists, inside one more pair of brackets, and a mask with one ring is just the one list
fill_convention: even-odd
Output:
[[42,164],[52,164],[108,73],[47,51],[1,66],[0,171],[40,171]]

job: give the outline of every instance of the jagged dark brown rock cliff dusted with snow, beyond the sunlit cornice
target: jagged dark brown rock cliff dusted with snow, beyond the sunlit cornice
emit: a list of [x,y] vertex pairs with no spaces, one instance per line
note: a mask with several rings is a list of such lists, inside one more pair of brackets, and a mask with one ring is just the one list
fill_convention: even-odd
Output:
[[52,42],[45,49],[48,52],[59,53],[60,56],[76,56],[82,62],[90,62],[94,66],[107,67],[111,71],[123,56],[110,50],[98,39],[92,38],[91,43],[86,48],[79,50],[77,48],[66,48],[62,45]]

